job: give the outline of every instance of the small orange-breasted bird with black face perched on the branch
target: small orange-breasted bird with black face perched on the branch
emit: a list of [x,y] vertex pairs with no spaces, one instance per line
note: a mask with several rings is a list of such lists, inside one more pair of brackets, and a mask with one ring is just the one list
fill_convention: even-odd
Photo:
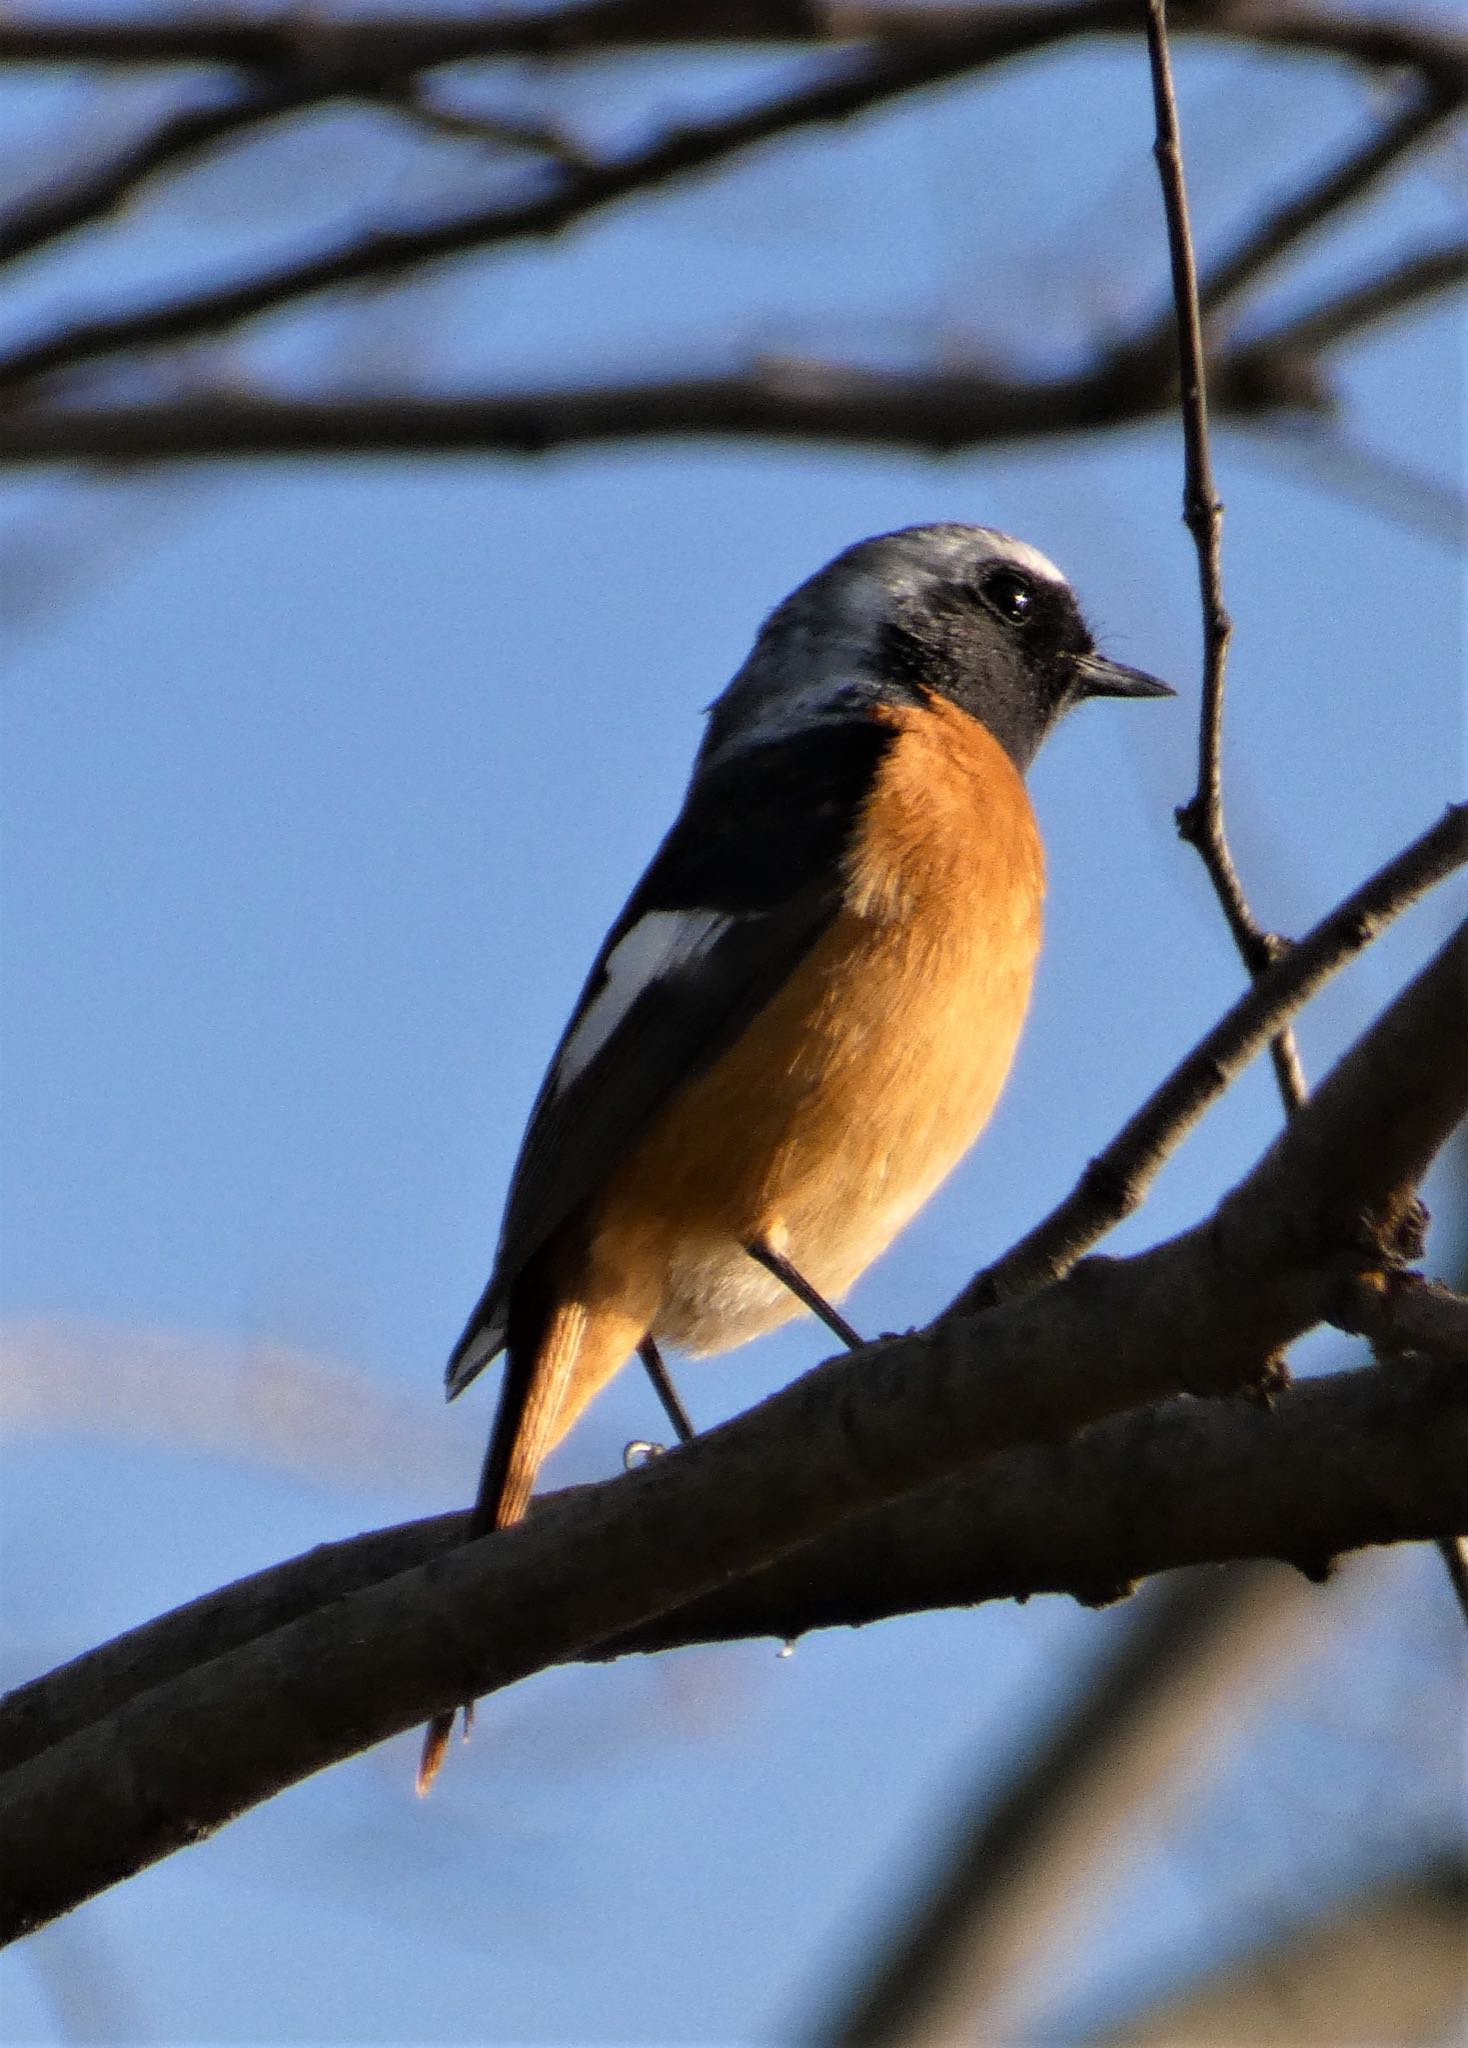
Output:
[[858,541],[776,606],[530,1112],[446,1368],[452,1399],[506,1354],[465,1540],[524,1516],[635,1354],[672,1403],[665,1343],[723,1352],[803,1311],[860,1341],[835,1305],[975,1143],[1020,1038],[1044,901],[1026,770],[1083,698],[1171,694],[989,526]]

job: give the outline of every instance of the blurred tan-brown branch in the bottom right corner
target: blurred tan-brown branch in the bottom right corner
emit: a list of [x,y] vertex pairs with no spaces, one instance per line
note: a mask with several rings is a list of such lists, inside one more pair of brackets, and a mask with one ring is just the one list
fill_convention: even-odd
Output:
[[1448,2048],[1460,2040],[1468,1860],[1384,1878],[1095,2038],[1095,2048]]

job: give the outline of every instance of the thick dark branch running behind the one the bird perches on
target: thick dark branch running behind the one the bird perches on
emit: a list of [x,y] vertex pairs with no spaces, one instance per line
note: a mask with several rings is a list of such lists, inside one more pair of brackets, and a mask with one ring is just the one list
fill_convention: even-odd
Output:
[[[1235,1559],[1290,1559],[1319,1577],[1339,1552],[1421,1540],[1454,1513],[1468,1516],[1468,1376],[1370,1366],[1290,1386],[1271,1407],[1169,1401],[1071,1444],[1005,1452],[581,1655],[786,1642],[1034,1593],[1095,1606],[1153,1573]],[[0,1774],[154,1686],[446,1556],[465,1520],[319,1544],[18,1686],[0,1700]]]

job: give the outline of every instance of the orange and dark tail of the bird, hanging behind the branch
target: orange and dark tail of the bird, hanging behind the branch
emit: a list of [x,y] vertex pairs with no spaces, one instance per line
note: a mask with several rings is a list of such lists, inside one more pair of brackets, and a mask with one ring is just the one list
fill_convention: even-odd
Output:
[[[561,1298],[534,1315],[516,1313],[520,1309],[514,1303],[500,1407],[465,1542],[520,1522],[543,1460],[643,1337],[643,1325],[633,1317],[616,1311],[594,1315],[577,1298]],[[463,1712],[467,1735],[473,1706]],[[434,1714],[424,1731],[420,1796],[438,1776],[452,1729],[450,1708]]]

